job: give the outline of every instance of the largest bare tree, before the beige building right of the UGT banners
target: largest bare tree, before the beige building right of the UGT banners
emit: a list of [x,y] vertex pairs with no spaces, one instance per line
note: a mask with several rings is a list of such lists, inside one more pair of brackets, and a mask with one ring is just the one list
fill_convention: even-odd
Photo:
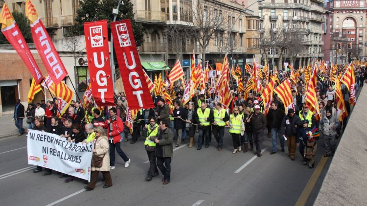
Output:
[[206,0],[193,0],[193,26],[189,28],[202,48],[202,62],[205,62],[206,48],[214,32],[223,31],[226,26],[225,15],[220,16],[214,6],[216,6],[214,3]]

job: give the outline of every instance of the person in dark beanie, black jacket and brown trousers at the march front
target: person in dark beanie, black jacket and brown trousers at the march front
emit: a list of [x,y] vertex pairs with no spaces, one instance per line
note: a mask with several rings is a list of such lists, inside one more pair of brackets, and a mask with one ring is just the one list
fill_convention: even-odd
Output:
[[287,139],[288,152],[291,160],[296,159],[296,136],[300,124],[301,119],[295,115],[295,111],[291,108],[288,110],[288,114],[284,116],[280,126],[281,135]]

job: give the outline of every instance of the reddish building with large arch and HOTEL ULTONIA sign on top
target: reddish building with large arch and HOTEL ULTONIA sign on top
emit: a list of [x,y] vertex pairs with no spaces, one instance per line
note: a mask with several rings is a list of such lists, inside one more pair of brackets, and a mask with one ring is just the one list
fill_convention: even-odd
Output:
[[[344,64],[348,59],[367,59],[367,1],[334,0],[326,3],[325,60]],[[351,43],[351,48],[348,48]],[[338,44],[342,48],[338,50]]]

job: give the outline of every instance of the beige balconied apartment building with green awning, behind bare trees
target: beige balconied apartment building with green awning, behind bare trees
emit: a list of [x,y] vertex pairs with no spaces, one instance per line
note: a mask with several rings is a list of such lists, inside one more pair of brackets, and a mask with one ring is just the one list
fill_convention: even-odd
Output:
[[[244,11],[253,2],[255,0],[241,3],[235,0],[134,0],[135,18],[145,29],[144,44],[138,48],[143,67],[154,77],[158,72],[164,74],[162,70],[171,68],[180,59],[188,78],[192,52],[195,50],[197,61],[202,58],[202,48],[189,34],[178,48],[172,39],[175,38],[171,35],[172,28],[175,25],[196,26],[200,15],[193,12],[202,11],[203,17],[211,15],[223,22],[222,29],[216,30],[209,40],[205,59],[210,65],[223,61],[229,30],[234,24],[227,47],[228,58],[243,68],[246,59],[259,57],[257,3]],[[184,33],[184,28],[180,32]]]

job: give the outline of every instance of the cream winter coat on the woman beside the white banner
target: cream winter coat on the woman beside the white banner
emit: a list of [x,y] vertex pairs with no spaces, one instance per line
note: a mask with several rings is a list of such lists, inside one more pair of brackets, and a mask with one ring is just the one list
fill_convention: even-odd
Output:
[[96,137],[96,138],[98,139],[95,142],[95,148],[94,148],[96,150],[95,154],[97,154],[99,157],[103,157],[104,155],[104,157],[102,160],[102,166],[101,167],[92,166],[92,171],[108,172],[110,171],[110,155],[108,154],[110,145],[108,143],[108,138],[106,136]]

